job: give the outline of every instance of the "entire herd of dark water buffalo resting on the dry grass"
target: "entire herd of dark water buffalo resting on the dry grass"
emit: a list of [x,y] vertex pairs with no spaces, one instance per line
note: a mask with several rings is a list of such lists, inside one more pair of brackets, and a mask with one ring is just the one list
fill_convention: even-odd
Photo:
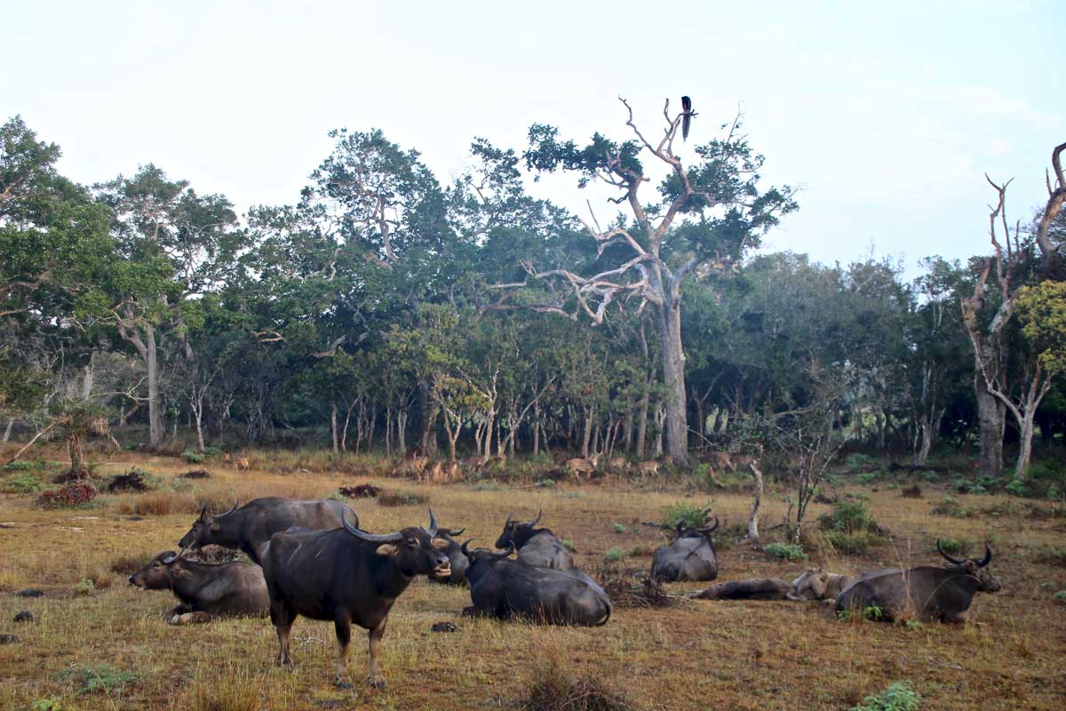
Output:
[[[256,499],[211,516],[205,506],[181,538],[181,551],[157,555],[130,577],[141,589],[171,589],[180,603],[172,624],[207,621],[214,616],[262,615],[277,631],[279,665],[291,665],[289,634],[297,616],[333,620],[337,633],[336,682],[349,688],[351,626],[369,631],[370,681],[385,681],[377,653],[389,610],[416,576],[467,585],[472,605],[464,614],[521,617],[556,625],[604,625],[611,599],[593,578],[574,565],[570,551],[545,528],[507,517],[497,550],[458,544],[463,529],[437,524],[374,534],[359,528],[356,513],[332,499]],[[659,548],[650,576],[661,582],[707,581],[717,577],[712,533],[717,528],[677,527],[677,537]],[[197,547],[216,545],[243,551],[254,564],[212,565],[191,560]],[[875,609],[883,619],[914,617],[962,621],[974,593],[996,592],[988,570],[991,549],[979,561],[953,559],[944,567],[886,569],[855,577],[821,569],[804,571],[791,583],[781,579],[738,580],[692,595],[700,599],[789,599],[835,601],[838,611]],[[517,556],[511,554],[517,550]]]

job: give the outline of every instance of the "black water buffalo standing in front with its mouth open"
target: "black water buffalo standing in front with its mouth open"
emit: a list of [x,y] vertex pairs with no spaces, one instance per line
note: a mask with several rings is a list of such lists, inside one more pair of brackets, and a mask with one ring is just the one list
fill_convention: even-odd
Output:
[[430,528],[409,527],[375,535],[360,531],[341,514],[342,529],[275,533],[263,556],[270,589],[270,617],[277,629],[278,665],[292,664],[289,632],[297,615],[332,619],[337,633],[337,685],[350,689],[348,649],[352,623],[369,630],[370,682],[385,685],[377,650],[389,610],[418,575],[448,576],[448,556],[433,546]]

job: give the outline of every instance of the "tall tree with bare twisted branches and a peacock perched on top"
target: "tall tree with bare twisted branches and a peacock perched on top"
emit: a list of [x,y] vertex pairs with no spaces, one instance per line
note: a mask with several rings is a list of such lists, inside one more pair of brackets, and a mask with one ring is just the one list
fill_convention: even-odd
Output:
[[[538,172],[563,169],[579,174],[579,185],[602,181],[619,192],[613,198],[626,204],[632,226],[617,223],[602,229],[593,221],[585,228],[598,245],[596,260],[576,268],[528,268],[529,276],[512,286],[531,281],[548,285],[555,300],[550,307],[583,313],[601,323],[616,300],[636,297],[656,313],[663,381],[666,388],[666,422],[669,453],[688,462],[684,363],[681,339],[681,286],[690,275],[731,271],[744,249],[758,244],[760,236],[777,224],[782,213],[795,209],[792,191],[761,192],[763,158],[738,132],[739,120],[722,139],[698,147],[699,162],[687,168],[675,155],[674,140],[683,112],[674,116],[667,101],[663,138],[651,143],[628,111],[627,126],[635,140],[615,142],[596,133],[584,147],[561,141],[559,130],[536,124],[530,129],[524,152],[528,167]],[[641,187],[647,182],[642,156],[668,169],[650,203],[642,201]],[[610,259],[600,261],[610,251]]]

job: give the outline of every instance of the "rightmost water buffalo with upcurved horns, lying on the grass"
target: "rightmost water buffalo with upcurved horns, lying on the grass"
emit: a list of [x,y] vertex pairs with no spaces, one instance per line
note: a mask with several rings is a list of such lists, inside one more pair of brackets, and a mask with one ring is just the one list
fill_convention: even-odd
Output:
[[950,565],[861,575],[837,596],[837,611],[878,608],[878,618],[886,620],[964,621],[975,593],[1000,589],[999,581],[987,568],[992,560],[992,549],[986,543],[983,559],[959,561],[948,555],[939,540],[936,548]]

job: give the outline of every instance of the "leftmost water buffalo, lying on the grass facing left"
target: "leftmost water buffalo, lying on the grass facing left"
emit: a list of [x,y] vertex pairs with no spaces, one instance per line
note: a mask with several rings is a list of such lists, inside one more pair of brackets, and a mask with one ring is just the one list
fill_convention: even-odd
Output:
[[206,623],[220,616],[264,615],[270,609],[262,568],[247,563],[209,565],[168,550],[130,576],[129,582],[143,591],[174,593],[181,604],[166,615],[172,625]]

